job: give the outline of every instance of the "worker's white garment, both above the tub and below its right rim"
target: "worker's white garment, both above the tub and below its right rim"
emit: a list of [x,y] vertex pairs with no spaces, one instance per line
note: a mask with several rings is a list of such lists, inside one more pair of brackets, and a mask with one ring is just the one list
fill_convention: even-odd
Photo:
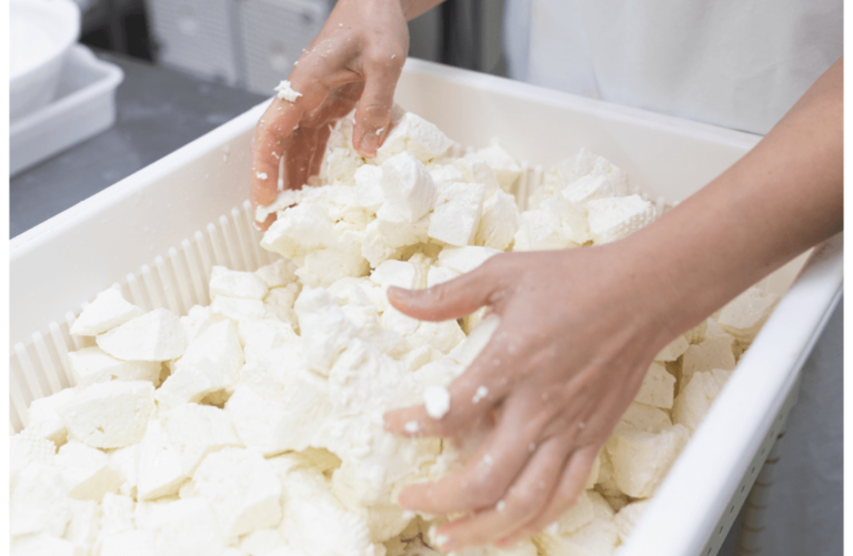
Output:
[[[840,0],[506,0],[510,77],[764,134],[842,55]],[[803,367],[761,554],[841,554],[839,307]],[[720,556],[734,554],[734,535]]]

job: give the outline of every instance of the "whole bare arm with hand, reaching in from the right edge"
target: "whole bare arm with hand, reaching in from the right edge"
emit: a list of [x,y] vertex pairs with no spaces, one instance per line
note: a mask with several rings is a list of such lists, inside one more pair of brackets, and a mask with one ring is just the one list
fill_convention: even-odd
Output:
[[445,437],[492,423],[462,471],[400,494],[404,508],[466,514],[439,528],[442,549],[505,545],[554,522],[575,503],[655,353],[842,230],[842,74],[839,60],[736,164],[624,240],[500,254],[428,290],[389,289],[415,319],[483,305],[501,317],[450,386],[444,417],[422,406],[385,415],[408,436],[411,421],[419,434]]

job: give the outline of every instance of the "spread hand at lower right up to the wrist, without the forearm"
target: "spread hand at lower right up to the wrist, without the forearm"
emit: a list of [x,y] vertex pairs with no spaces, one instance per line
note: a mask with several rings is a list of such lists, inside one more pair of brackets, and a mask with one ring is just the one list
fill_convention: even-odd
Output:
[[[489,305],[501,324],[449,387],[450,412],[423,406],[385,415],[407,436],[458,437],[495,425],[462,471],[407,487],[403,508],[469,513],[441,526],[445,552],[510,545],[534,535],[581,494],[595,456],[636,395],[655,353],[675,335],[663,314],[658,269],[625,241],[569,251],[506,253],[429,290],[389,289],[391,304],[425,321]],[[478,388],[488,394],[474,402]]]

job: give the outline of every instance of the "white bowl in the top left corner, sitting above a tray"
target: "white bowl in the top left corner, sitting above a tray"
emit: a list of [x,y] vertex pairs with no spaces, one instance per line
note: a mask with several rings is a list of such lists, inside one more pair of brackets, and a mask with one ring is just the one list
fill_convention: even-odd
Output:
[[9,7],[9,118],[14,121],[53,99],[62,62],[80,34],[80,9],[71,0],[11,0]]

